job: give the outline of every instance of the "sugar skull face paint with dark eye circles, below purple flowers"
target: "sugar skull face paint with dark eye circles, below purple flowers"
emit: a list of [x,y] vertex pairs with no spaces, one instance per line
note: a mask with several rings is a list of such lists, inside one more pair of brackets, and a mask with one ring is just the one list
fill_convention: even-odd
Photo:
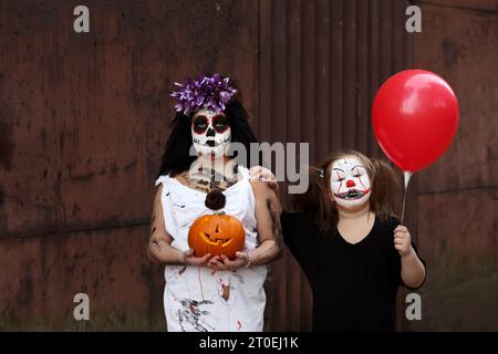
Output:
[[219,158],[228,152],[230,125],[225,114],[199,110],[191,121],[191,140],[197,154]]

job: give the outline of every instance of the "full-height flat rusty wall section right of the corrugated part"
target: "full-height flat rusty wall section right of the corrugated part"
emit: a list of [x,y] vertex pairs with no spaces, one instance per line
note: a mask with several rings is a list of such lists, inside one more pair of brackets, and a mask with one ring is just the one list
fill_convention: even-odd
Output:
[[428,262],[413,330],[498,331],[498,1],[423,1],[413,64],[455,88],[460,124],[440,160],[415,177]]

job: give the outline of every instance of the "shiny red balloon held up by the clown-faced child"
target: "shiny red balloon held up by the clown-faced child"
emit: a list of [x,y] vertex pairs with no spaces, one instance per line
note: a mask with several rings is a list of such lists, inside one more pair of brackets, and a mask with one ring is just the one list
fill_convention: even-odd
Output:
[[391,76],[375,95],[372,125],[387,157],[406,171],[437,160],[458,127],[458,101],[438,75],[406,70]]

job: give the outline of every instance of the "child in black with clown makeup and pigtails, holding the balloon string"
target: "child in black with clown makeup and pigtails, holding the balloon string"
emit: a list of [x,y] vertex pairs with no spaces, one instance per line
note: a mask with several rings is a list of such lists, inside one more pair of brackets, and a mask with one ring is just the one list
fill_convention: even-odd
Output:
[[425,263],[394,214],[400,191],[385,163],[338,153],[310,169],[302,211],[282,214],[284,241],[313,291],[314,331],[394,331],[397,288],[423,284]]

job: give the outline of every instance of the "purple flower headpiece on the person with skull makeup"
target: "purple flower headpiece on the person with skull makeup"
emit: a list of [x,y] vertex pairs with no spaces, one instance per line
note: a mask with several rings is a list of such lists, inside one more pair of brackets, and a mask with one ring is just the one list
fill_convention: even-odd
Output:
[[184,83],[175,82],[177,90],[172,93],[172,97],[177,101],[176,111],[183,112],[185,115],[200,108],[221,113],[237,93],[229,82],[229,77],[221,77],[219,74],[211,77],[203,75],[199,79],[189,79]]

